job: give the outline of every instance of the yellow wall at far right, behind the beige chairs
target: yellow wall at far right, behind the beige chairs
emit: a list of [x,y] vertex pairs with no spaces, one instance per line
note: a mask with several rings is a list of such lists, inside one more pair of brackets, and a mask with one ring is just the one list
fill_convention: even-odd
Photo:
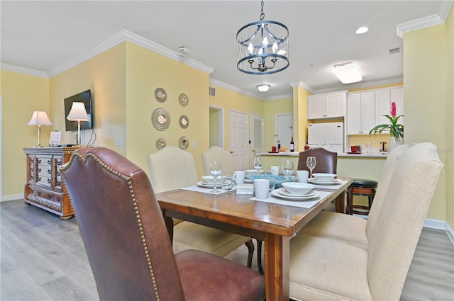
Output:
[[[453,149],[449,150],[446,144],[445,131],[447,123],[452,128],[452,120],[446,120],[453,118],[453,111],[446,110],[453,101],[446,93],[447,86],[452,86],[447,78],[446,41],[446,24],[404,34],[405,143],[433,142],[445,164],[427,216],[436,220],[446,220],[446,183],[450,186],[453,183],[452,175],[449,178],[446,174],[453,168],[452,163],[450,166],[450,161],[446,161],[447,155],[453,156]],[[449,197],[452,207],[452,195]]]

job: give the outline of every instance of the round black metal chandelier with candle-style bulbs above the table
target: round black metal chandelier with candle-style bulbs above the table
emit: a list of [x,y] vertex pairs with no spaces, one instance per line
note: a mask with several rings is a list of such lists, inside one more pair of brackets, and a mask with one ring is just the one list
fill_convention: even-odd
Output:
[[244,25],[236,33],[240,72],[248,74],[272,74],[289,67],[289,28],[276,21],[260,21]]

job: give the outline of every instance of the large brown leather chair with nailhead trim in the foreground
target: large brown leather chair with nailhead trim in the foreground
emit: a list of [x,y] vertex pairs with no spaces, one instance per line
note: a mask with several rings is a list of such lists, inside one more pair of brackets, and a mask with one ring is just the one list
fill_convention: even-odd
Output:
[[[62,166],[100,300],[263,300],[263,276],[198,250],[172,252],[148,175],[103,147]],[[222,273],[219,273],[222,271]]]

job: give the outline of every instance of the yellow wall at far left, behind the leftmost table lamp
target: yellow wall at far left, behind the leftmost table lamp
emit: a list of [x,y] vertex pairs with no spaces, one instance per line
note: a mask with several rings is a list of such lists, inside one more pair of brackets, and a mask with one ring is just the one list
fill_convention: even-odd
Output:
[[[49,79],[1,70],[1,96],[3,193],[23,194],[26,155],[22,149],[38,144],[38,127],[27,124],[34,110],[44,110],[55,123],[49,111]],[[41,145],[48,146],[51,128],[41,127]]]

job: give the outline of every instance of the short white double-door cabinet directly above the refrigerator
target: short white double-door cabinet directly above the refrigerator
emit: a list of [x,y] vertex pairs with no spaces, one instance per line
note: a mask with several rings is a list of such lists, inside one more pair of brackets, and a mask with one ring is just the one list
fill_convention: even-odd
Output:
[[307,119],[345,117],[347,91],[316,94],[307,97]]

